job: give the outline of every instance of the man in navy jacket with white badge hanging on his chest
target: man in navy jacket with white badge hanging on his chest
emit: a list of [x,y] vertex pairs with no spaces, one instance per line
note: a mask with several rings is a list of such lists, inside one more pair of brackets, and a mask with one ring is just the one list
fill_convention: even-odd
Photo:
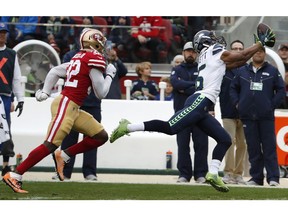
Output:
[[243,122],[252,177],[247,184],[264,185],[265,168],[267,183],[278,186],[274,111],[285,97],[285,85],[278,69],[266,62],[265,56],[262,47],[249,65],[240,68],[232,80],[230,97]]

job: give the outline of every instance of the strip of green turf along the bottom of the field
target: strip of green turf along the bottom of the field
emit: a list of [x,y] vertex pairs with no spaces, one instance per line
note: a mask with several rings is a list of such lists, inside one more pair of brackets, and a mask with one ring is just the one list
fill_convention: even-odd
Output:
[[98,182],[29,182],[28,194],[0,183],[0,200],[287,200],[285,188],[233,187],[228,193],[210,185],[116,184]]

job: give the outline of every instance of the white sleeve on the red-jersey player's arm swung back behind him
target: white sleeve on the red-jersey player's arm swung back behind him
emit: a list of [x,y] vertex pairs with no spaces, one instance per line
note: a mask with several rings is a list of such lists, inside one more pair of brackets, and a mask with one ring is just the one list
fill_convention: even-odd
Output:
[[57,81],[60,78],[66,78],[66,68],[68,65],[69,63],[67,62],[51,68],[45,78],[44,87],[42,90],[44,93],[50,95],[51,90],[56,85]]

